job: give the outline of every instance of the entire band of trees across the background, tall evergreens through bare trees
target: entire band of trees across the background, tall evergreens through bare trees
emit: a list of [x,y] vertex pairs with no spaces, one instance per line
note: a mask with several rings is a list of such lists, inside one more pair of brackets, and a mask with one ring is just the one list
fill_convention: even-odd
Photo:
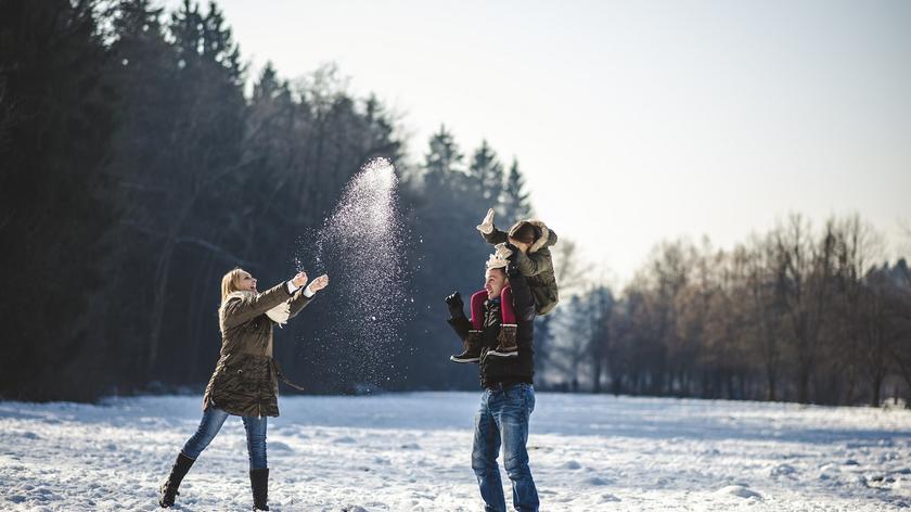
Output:
[[[414,162],[396,124],[332,66],[251,79],[215,3],[0,0],[0,397],[201,389],[221,276],[241,266],[265,289],[312,265],[296,256],[375,156],[400,178],[400,335],[370,371],[363,346],[322,342],[333,327],[320,319],[348,300],[331,285],[277,330],[275,356],[313,393],[476,388],[476,369],[448,360],[460,343],[442,297],[482,287],[487,208],[505,228],[531,202],[515,157],[487,141],[463,152],[440,126]],[[665,243],[619,295],[592,289],[562,238],[564,300],[536,323],[538,382],[826,404],[907,394],[908,268],[875,265],[870,235],[855,218],[813,233],[794,217],[733,251]],[[358,278],[344,261],[332,272]]]

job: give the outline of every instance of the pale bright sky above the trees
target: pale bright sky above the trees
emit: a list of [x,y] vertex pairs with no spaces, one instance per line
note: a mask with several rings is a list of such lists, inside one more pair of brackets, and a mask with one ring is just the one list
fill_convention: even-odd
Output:
[[413,162],[441,124],[466,156],[486,139],[518,158],[537,217],[593,279],[790,213],[860,214],[884,257],[911,254],[911,2],[218,4],[251,78],[335,63],[400,114]]

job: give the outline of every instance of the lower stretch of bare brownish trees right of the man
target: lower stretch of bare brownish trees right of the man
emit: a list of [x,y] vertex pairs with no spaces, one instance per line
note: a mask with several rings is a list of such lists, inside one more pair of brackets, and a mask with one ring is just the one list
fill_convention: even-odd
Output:
[[[731,251],[663,243],[562,311],[553,377],[633,395],[911,404],[911,272],[858,216],[792,215]],[[888,387],[886,387],[888,384]]]

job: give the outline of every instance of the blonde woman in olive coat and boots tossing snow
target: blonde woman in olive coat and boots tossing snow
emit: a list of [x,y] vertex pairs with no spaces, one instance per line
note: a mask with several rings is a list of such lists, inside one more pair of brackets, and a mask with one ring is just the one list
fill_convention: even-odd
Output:
[[235,268],[221,279],[221,357],[203,398],[203,420],[162,484],[158,504],[174,504],[183,476],[218,434],[229,415],[244,421],[249,452],[249,484],[254,510],[267,504],[269,469],[266,465],[266,419],[279,415],[279,368],[272,359],[272,325],[283,324],[329,285],[323,274],[306,287],[307,274],[256,293],[256,280]]

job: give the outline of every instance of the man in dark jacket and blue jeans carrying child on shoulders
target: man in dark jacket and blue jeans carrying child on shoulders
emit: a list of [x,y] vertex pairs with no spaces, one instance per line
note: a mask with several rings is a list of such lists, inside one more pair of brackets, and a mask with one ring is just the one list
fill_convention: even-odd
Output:
[[[518,511],[538,510],[538,490],[528,468],[528,417],[535,410],[534,348],[531,346],[535,303],[526,278],[515,264],[518,249],[510,246],[509,260],[491,255],[487,261],[480,350],[480,385],[484,395],[475,417],[472,469],[477,475],[480,497],[486,511],[505,512],[503,485],[497,457],[503,445],[503,460],[512,482],[513,505]],[[495,350],[501,331],[500,298],[503,287],[511,289],[512,304],[516,317],[515,337],[518,345],[516,357],[488,357]],[[446,298],[449,307],[449,324],[463,341],[472,328],[465,318],[459,293]]]

